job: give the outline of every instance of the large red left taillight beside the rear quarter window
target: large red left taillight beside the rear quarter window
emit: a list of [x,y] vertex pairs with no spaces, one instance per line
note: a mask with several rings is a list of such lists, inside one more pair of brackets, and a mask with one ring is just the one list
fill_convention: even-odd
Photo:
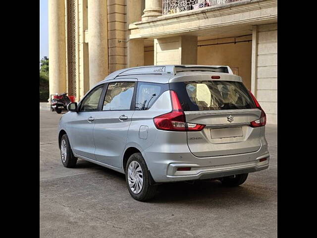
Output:
[[200,131],[206,125],[187,123],[184,111],[175,91],[170,90],[172,111],[154,118],[155,126],[160,130]]

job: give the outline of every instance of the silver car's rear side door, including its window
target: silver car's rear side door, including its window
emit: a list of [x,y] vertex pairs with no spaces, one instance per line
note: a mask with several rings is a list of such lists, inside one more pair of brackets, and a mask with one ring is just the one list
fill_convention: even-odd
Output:
[[134,113],[137,79],[109,82],[94,127],[97,161],[121,168],[122,154]]

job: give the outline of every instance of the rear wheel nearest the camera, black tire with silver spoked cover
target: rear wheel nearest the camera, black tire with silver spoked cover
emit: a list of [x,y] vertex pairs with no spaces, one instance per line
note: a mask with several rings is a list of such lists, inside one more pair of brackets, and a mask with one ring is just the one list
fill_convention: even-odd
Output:
[[[142,154],[135,153],[131,155],[125,167],[125,180],[131,196],[138,201],[146,201],[153,198],[157,186],[150,184],[151,179],[152,177]],[[139,184],[142,184],[142,186]]]

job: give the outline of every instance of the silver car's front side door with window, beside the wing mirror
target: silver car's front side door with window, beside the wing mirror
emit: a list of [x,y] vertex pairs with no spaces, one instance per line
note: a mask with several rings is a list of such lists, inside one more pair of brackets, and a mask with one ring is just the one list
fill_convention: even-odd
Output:
[[74,113],[73,120],[70,122],[73,152],[92,160],[96,160],[93,129],[97,111],[100,110],[104,86],[103,84],[93,88],[85,96],[78,105],[78,112]]

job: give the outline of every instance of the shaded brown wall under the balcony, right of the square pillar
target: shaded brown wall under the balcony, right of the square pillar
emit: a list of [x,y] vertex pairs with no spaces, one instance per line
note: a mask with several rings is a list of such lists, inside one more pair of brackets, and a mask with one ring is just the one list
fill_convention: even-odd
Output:
[[[241,42],[250,40],[249,42]],[[199,41],[198,42],[198,64],[209,65],[229,65],[233,71],[238,69],[238,75],[242,77],[243,83],[251,89],[251,54],[252,42],[251,37],[247,39],[239,39],[234,42],[234,38]],[[208,44],[217,44],[211,46],[203,46]],[[220,42],[220,44],[219,44]],[[229,44],[221,44],[229,43]],[[234,72],[235,73],[235,72]]]

